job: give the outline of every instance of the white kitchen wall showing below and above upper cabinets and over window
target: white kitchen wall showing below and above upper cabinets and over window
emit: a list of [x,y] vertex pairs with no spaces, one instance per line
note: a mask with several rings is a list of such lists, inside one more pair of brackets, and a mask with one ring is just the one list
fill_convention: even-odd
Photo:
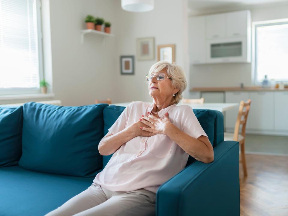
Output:
[[[262,7],[241,7],[229,8],[229,10],[215,10],[214,13],[222,13],[236,10],[248,9],[251,11],[251,20],[262,21],[270,19],[288,18],[288,4],[269,5]],[[212,14],[209,11],[209,14]],[[197,15],[206,15],[202,14]],[[220,87],[220,86],[239,86],[243,82],[244,86],[252,86],[251,63],[226,63],[226,64],[207,64],[190,65],[190,88],[193,87]]]

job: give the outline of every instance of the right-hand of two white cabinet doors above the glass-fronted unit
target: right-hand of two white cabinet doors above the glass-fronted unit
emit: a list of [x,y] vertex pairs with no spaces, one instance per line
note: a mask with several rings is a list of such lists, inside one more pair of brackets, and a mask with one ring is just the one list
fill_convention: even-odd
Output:
[[227,13],[227,37],[247,35],[248,10]]

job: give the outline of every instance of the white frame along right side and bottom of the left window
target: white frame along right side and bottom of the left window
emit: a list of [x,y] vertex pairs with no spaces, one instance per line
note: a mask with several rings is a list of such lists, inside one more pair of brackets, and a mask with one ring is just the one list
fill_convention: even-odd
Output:
[[[44,78],[44,62],[43,62],[43,33],[42,33],[42,12],[41,0],[36,0],[37,15],[37,41],[38,41],[38,65],[39,80]],[[0,95],[19,95],[19,94],[37,94],[41,93],[41,88],[0,88]]]

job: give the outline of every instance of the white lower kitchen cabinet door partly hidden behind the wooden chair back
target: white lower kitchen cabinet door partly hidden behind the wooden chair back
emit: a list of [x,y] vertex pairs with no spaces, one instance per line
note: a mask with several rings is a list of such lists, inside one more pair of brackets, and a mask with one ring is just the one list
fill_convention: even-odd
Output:
[[[240,103],[240,101],[247,101],[249,97],[250,95],[248,91],[226,91],[225,93],[226,103]],[[229,131],[234,130],[237,116],[238,116],[238,108],[226,111],[226,119],[225,119],[226,129],[228,129]],[[250,113],[248,114],[248,121],[246,123],[246,128],[249,127],[249,117]]]

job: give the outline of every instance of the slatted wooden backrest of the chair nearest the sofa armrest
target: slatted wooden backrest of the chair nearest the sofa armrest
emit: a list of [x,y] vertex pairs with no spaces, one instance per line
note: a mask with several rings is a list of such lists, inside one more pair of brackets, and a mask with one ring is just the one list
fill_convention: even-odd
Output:
[[[248,113],[250,110],[250,104],[251,104],[250,99],[248,99],[248,101],[246,101],[246,102],[240,101],[238,116],[237,116],[237,120],[235,123],[235,129],[234,129],[234,137],[233,137],[234,141],[238,141],[240,125],[242,125],[241,135],[243,137],[245,136],[246,123],[247,123],[247,119],[248,119]],[[244,107],[245,107],[245,111],[244,111]],[[242,118],[242,116],[243,116],[243,118]]]

